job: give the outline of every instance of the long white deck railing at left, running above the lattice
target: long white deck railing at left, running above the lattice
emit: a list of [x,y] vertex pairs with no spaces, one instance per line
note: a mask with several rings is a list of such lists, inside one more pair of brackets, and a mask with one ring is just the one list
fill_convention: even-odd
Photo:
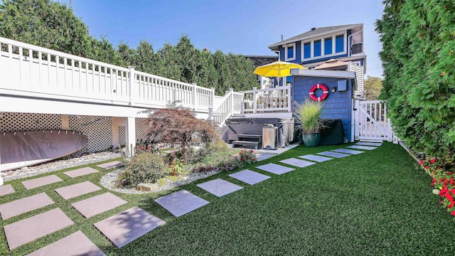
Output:
[[0,37],[0,93],[16,97],[209,112],[215,91]]

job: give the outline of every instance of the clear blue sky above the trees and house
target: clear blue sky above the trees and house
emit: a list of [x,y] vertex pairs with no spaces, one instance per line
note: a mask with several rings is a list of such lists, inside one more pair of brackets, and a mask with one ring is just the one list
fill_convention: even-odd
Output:
[[[60,0],[69,3],[69,0]],[[274,55],[267,46],[314,27],[364,23],[367,75],[380,76],[381,50],[375,21],[382,0],[72,0],[73,11],[92,36],[136,47],[175,45],[188,35],[196,48],[245,55]]]

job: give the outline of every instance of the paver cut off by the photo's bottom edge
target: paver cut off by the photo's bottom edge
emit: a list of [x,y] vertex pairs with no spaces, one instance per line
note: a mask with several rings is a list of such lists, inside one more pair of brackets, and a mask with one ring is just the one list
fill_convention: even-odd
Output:
[[53,242],[39,250],[31,252],[27,256],[42,255],[87,255],[87,256],[104,256],[105,253],[100,250],[82,231],[77,231],[65,238]]

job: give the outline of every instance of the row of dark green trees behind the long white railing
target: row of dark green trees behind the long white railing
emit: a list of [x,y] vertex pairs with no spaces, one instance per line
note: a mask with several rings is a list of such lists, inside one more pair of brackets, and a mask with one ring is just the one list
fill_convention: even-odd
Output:
[[251,90],[256,84],[255,66],[242,55],[210,53],[182,36],[176,46],[154,50],[146,40],[137,48],[120,42],[117,50],[106,36],[89,34],[88,27],[65,4],[52,0],[4,0],[0,5],[0,36],[173,80],[215,87],[217,95],[233,88]]

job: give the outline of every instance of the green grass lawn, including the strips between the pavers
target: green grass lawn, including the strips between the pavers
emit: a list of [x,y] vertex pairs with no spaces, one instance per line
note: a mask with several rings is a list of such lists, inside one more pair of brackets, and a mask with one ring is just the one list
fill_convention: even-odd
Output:
[[[1,221],[2,226],[55,207],[60,207],[75,225],[12,252],[7,250],[2,229],[0,254],[26,255],[82,230],[107,255],[454,255],[454,222],[438,206],[438,196],[432,194],[429,186],[431,178],[415,168],[415,161],[399,145],[384,143],[373,151],[296,168],[281,176],[254,169],[261,164],[344,146],[298,146],[247,166],[272,176],[254,186],[230,178],[227,173],[206,178],[205,181],[223,178],[244,187],[222,198],[196,186],[203,181],[163,193],[115,193],[129,203],[89,219],[70,206],[89,196],[65,201],[53,191],[87,177],[72,180],[58,171],[55,174],[63,182],[31,191],[26,191],[20,181],[12,181],[18,189],[1,198],[2,202],[45,192],[55,204]],[[91,174],[88,179],[99,184],[105,173]],[[210,203],[174,218],[154,202],[155,198],[181,189]],[[95,194],[105,192],[103,188]],[[117,249],[93,223],[132,206],[165,220],[166,225]]]

